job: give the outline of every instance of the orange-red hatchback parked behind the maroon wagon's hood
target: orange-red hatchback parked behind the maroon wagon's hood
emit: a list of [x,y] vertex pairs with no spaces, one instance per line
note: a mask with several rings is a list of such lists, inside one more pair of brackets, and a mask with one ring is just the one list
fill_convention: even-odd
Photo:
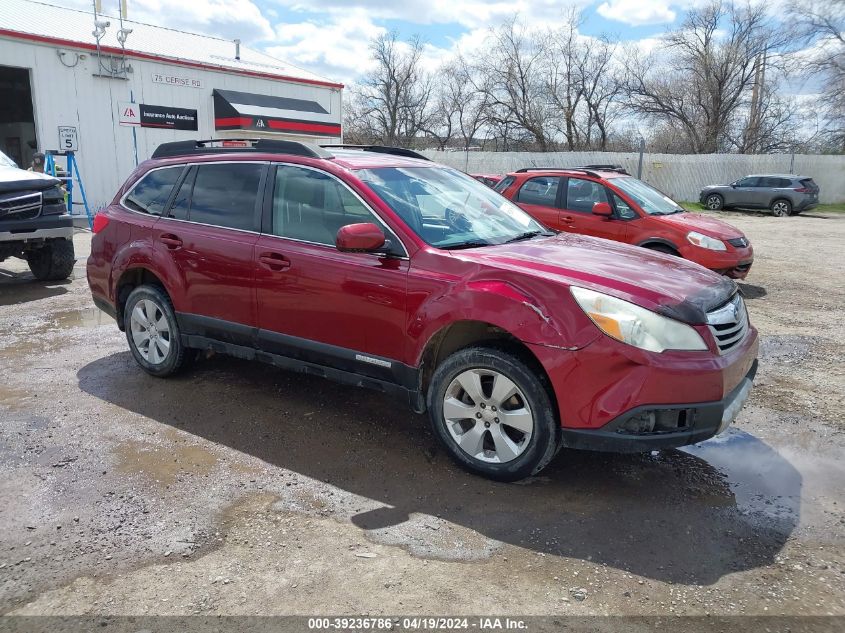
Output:
[[681,205],[623,169],[520,169],[495,187],[543,225],[676,255],[745,279],[754,251],[742,231]]

